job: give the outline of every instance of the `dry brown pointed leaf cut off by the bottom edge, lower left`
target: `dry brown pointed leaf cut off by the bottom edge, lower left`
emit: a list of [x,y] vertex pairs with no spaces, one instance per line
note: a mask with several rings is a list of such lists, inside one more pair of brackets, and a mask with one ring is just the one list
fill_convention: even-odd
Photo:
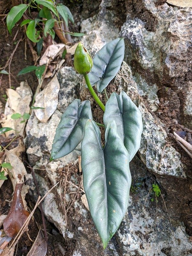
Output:
[[45,256],[46,253],[47,253],[47,246],[43,236],[43,232],[40,229],[35,239],[35,242],[32,245],[27,256]]

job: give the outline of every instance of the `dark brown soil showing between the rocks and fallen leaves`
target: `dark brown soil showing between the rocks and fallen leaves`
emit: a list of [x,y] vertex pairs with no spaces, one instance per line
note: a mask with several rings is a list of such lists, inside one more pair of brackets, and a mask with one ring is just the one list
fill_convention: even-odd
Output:
[[[77,1],[76,5],[70,5],[70,1],[67,1],[70,7],[70,10],[74,15],[75,18],[75,24],[77,24],[77,22],[79,21],[79,13],[82,11],[83,4],[81,1]],[[1,4],[3,7],[1,7],[1,15],[6,14],[9,9],[10,9],[10,4],[7,3],[7,1],[2,0]],[[100,4],[100,1],[98,1],[98,6]],[[124,7],[124,2],[123,1],[118,1],[118,4],[121,4]],[[162,1],[159,1],[159,4],[162,4]],[[127,1],[127,5],[129,6],[129,1]],[[122,8],[123,8],[122,7]],[[127,7],[128,8],[128,7]],[[134,6],[133,6],[133,10],[134,10]],[[84,16],[86,18],[86,15],[94,15],[97,11],[97,8],[95,10],[90,10],[90,12],[85,12],[84,11]],[[134,11],[132,11],[134,13]],[[124,16],[125,19],[125,13],[122,13],[122,15]],[[135,13],[135,15],[137,15],[138,18],[140,18],[141,20],[147,20],[147,29],[149,31],[154,31],[155,29],[155,20],[153,20],[153,17],[150,16],[149,13],[142,13],[140,12]],[[120,19],[119,14],[116,15],[116,23],[118,24],[118,26],[121,26],[121,22],[122,19]],[[11,62],[11,86],[13,89],[15,89],[16,87],[18,87],[20,85],[21,81],[27,80],[28,84],[30,85],[33,93],[36,90],[36,86],[38,84],[36,76],[34,74],[34,72],[28,73],[24,76],[20,76],[18,78],[16,78],[18,72],[27,67],[27,66],[32,66],[34,65],[34,61],[33,61],[33,57],[32,57],[32,53],[30,51],[29,45],[26,42],[26,38],[24,36],[23,30],[20,28],[20,26],[17,26],[16,28],[13,28],[12,30],[12,36],[9,35],[6,25],[5,25],[5,20],[4,20],[4,16],[1,16],[1,26],[0,26],[0,32],[1,32],[1,45],[0,45],[0,52],[1,52],[1,67],[4,67],[4,65],[6,64],[7,60],[9,59],[10,55],[12,54],[12,52],[14,51],[18,41],[20,40],[20,43],[16,49],[15,54],[13,55],[12,58],[12,62]],[[71,30],[74,32],[79,32],[79,28],[78,26],[72,26],[71,25]],[[27,58],[26,58],[27,56]],[[71,59],[67,62],[67,63],[71,63]],[[8,70],[8,69],[6,69]],[[1,75],[2,76],[2,75]],[[1,88],[0,88],[0,99],[1,102],[3,104],[3,108],[6,104],[6,89],[10,88],[10,83],[9,83],[9,79],[7,75],[3,75],[1,78]],[[117,86],[113,83],[113,81],[110,83],[110,85],[108,86],[108,96],[110,96],[110,94],[112,92],[116,92],[117,91]],[[159,91],[158,91],[158,97],[159,97],[159,109],[156,113],[153,113],[153,115],[158,116],[161,121],[164,123],[165,127],[166,127],[166,131],[168,132],[168,134],[172,131],[182,131],[181,127],[178,126],[175,122],[174,119],[178,120],[180,124],[182,124],[182,110],[180,108],[180,105],[182,105],[182,98],[180,97],[180,95],[177,94],[176,92],[176,88],[174,87],[169,87],[166,89],[166,86],[162,86]],[[87,93],[85,92],[81,92],[81,99],[82,100],[86,100],[87,99]],[[106,99],[104,95],[100,95],[100,100],[105,103]],[[100,108],[93,103],[93,118],[96,122],[98,123],[102,123],[102,110],[100,110]],[[159,112],[161,112],[161,115],[159,115]],[[101,128],[101,140],[104,143],[104,129]],[[191,158],[188,156],[188,154],[182,150],[177,144],[176,142],[172,139],[171,136],[168,135],[169,138],[169,142],[170,144],[173,145],[173,147],[175,147],[181,154],[181,161],[186,164],[188,166],[188,175],[190,174],[191,171],[191,166],[192,166],[192,160]],[[8,145],[8,143],[11,141],[10,139],[7,140],[3,140],[3,145],[4,147]],[[10,147],[14,147],[15,145],[12,144],[12,146]],[[9,149],[9,148],[8,148]],[[23,154],[23,161],[26,160],[27,161],[27,155]],[[67,179],[70,180],[71,175],[75,175],[76,179],[79,181],[81,181],[81,173],[79,172],[79,167],[78,164],[76,166],[69,166],[70,168],[70,172],[68,174]],[[31,170],[29,168],[27,168],[27,164],[26,164],[26,169],[27,172],[30,173]],[[68,170],[68,166],[66,166],[64,169],[62,170],[57,170],[57,172],[59,173],[59,176],[61,179],[65,179],[66,178],[66,173]],[[43,172],[42,172],[43,175]],[[149,174],[152,175],[152,174]],[[188,179],[187,181],[182,181],[181,179],[179,179],[179,182],[176,182],[176,178],[174,177],[170,177],[169,180],[165,180],[167,178],[161,177],[159,175],[156,175],[156,178],[159,180],[159,182],[161,182],[162,184],[164,184],[164,187],[162,187],[162,191],[164,192],[165,196],[165,201],[168,202],[167,207],[169,207],[169,209],[172,209],[170,214],[172,216],[174,216],[175,218],[180,218],[180,220],[184,221],[184,224],[186,226],[186,231],[188,233],[188,235],[192,236],[192,228],[190,226],[190,223],[192,222],[192,217],[191,217],[191,210],[192,210],[192,201],[191,199],[188,197],[188,193],[186,193],[186,191],[191,191],[192,190],[192,184],[191,184],[191,179]],[[177,185],[175,185],[177,184]],[[177,195],[177,198],[175,198],[175,201],[172,201],[172,198],[174,198],[174,193],[172,192],[174,187],[177,187],[176,190],[180,191],[179,194]],[[67,190],[67,192],[69,192]],[[13,193],[13,189],[12,189],[12,183],[11,181],[5,180],[3,186],[0,188],[0,204],[1,204],[1,209],[0,209],[0,214],[7,214],[9,209],[10,209],[10,203],[12,200],[12,193]],[[136,196],[134,194],[134,191],[130,192],[132,196]],[[72,194],[71,195],[71,200],[73,201],[73,198],[76,194]],[[78,192],[77,193],[77,198],[79,200],[79,204],[82,204],[81,200],[81,193]],[[29,209],[32,210],[34,207],[34,202],[33,200],[27,195],[26,197],[26,201],[27,204],[29,206]],[[159,203],[161,204],[161,203]],[[176,207],[177,205],[177,207]],[[164,207],[164,205],[162,204],[161,207]],[[87,227],[91,227],[94,228],[94,224],[93,222],[91,223],[92,226],[86,226],[86,224],[82,222],[82,220],[80,219],[76,219],[76,222],[74,222],[74,220],[70,219],[70,216],[72,215],[72,212],[75,211],[73,204],[71,205],[70,209],[68,210],[66,216],[67,216],[67,220],[68,220],[68,225],[74,225],[72,228],[75,230],[76,227],[78,226],[78,223],[81,223],[81,225],[83,225],[83,228],[87,228]],[[41,211],[39,209],[36,210],[35,215],[34,215],[34,219],[31,220],[29,226],[28,226],[28,234],[30,236],[30,238],[34,241],[37,233],[38,233],[38,225],[40,225],[40,227],[43,229],[43,222],[42,222],[42,216],[41,216]],[[73,254],[74,248],[76,246],[76,240],[71,239],[70,241],[68,239],[64,239],[63,236],[59,233],[59,230],[52,224],[50,223],[48,220],[46,220],[45,218],[45,224],[46,224],[46,230],[47,230],[47,236],[48,236],[48,246],[49,246],[49,250],[50,253],[47,254],[47,256],[50,255],[58,255],[58,256],[62,256],[62,250],[66,251],[66,256],[71,256]],[[2,227],[1,227],[2,228]],[[17,256],[26,256],[29,249],[32,246],[32,242],[30,241],[30,239],[27,236],[27,233],[25,232],[24,235],[22,236],[22,238],[19,241],[18,244],[18,249],[17,252],[14,255]]]

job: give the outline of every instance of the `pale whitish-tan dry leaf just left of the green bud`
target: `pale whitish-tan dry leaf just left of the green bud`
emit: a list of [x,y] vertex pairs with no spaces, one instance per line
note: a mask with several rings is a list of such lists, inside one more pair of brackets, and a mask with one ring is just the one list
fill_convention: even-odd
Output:
[[39,60],[39,65],[42,66],[44,64],[49,63],[50,59],[54,59],[59,54],[64,51],[65,44],[52,44],[47,47],[46,51],[44,52],[43,56]]

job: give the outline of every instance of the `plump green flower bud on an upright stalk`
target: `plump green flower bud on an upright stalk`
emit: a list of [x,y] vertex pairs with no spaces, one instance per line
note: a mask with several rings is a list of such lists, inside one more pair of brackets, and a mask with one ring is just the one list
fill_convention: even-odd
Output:
[[77,45],[74,55],[74,68],[75,70],[81,74],[88,74],[93,66],[93,60],[91,54],[84,47],[83,42],[80,42]]

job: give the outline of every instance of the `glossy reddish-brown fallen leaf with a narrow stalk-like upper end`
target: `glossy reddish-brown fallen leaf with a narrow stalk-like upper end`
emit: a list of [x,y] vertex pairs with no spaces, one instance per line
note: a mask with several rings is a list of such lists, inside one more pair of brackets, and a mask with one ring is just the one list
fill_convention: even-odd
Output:
[[4,232],[9,237],[17,235],[30,214],[23,205],[22,187],[23,183],[16,185],[11,208],[3,222]]

